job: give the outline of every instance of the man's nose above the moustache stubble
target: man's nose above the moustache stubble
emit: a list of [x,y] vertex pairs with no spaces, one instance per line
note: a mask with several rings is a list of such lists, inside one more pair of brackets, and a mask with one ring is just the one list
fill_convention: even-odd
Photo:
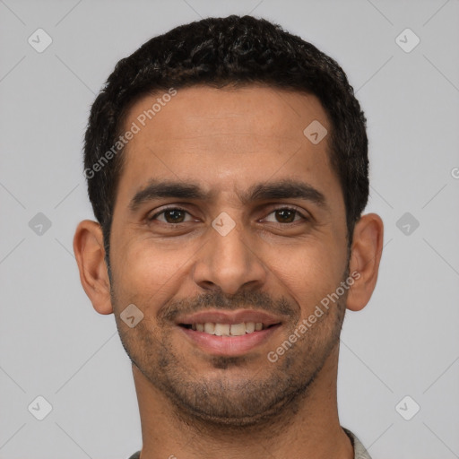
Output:
[[210,228],[206,237],[193,270],[199,287],[234,295],[238,290],[256,290],[264,285],[267,269],[261,254],[255,253],[256,247],[244,240],[240,223],[224,236]]

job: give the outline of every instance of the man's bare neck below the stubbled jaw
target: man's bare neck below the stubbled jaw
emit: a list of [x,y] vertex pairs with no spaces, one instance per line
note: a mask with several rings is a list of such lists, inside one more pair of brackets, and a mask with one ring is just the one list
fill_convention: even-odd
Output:
[[133,365],[134,383],[142,423],[141,459],[221,459],[243,457],[299,457],[352,459],[351,440],[338,419],[336,378],[338,346],[315,380],[285,404],[275,418],[234,428],[178,413]]

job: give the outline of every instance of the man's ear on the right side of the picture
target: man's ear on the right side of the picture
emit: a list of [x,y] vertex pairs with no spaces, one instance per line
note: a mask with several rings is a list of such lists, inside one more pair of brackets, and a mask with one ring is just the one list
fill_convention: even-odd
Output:
[[384,224],[376,213],[363,215],[354,227],[349,266],[354,283],[346,301],[346,307],[351,311],[359,311],[367,306],[375,290],[383,237]]

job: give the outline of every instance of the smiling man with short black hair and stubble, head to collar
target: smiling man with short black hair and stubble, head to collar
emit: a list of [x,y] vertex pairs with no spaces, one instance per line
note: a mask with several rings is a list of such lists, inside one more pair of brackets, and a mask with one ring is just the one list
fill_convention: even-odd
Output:
[[345,309],[377,282],[365,117],[333,59],[250,16],[170,30],[91,108],[74,252],[157,458],[368,458],[338,419]]

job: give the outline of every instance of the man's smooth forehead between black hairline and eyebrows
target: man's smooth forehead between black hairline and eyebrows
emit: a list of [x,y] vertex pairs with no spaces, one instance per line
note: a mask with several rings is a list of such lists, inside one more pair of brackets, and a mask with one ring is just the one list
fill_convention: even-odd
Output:
[[128,112],[125,127],[138,132],[123,153],[119,190],[133,195],[152,178],[199,181],[222,191],[305,174],[322,186],[336,181],[327,136],[314,144],[304,134],[317,121],[330,132],[316,97],[260,86],[169,93],[144,97]]

